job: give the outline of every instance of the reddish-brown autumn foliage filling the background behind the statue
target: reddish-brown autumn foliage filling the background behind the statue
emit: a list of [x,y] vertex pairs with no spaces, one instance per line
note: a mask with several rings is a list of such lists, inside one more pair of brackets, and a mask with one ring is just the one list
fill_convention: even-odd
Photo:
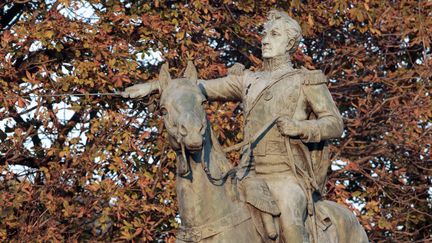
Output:
[[[188,59],[205,79],[234,62],[259,69],[273,8],[301,23],[293,61],[326,73],[344,116],[328,197],[372,242],[431,240],[432,3],[412,0],[3,1],[0,239],[173,241],[158,96],[51,95],[123,90],[154,79],[161,59],[173,76]],[[238,104],[207,110],[224,145],[242,139]]]

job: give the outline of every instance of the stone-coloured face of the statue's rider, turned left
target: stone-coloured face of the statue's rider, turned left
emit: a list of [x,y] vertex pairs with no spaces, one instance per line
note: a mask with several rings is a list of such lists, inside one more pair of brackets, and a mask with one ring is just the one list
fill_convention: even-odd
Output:
[[261,43],[264,58],[272,58],[288,53],[293,40],[287,34],[285,28],[286,24],[281,20],[272,21],[264,27],[264,36]]

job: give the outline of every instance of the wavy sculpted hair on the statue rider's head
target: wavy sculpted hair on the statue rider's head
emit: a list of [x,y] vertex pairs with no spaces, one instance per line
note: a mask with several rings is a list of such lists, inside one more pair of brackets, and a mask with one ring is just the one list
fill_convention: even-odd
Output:
[[302,39],[302,31],[299,23],[291,18],[287,13],[279,10],[270,10],[267,14],[267,23],[266,25],[272,23],[273,21],[281,20],[285,23],[285,30],[288,36],[291,39],[294,39],[295,44],[293,48],[290,50],[290,53],[293,53],[297,50],[298,45]]

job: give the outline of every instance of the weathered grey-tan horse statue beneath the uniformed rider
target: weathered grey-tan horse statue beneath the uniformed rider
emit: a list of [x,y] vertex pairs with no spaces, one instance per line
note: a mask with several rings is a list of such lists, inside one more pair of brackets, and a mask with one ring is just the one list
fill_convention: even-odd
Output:
[[[184,78],[171,79],[167,64],[159,74],[161,113],[169,143],[177,153],[176,190],[181,220],[177,242],[283,242],[278,237],[279,227],[272,237],[263,233],[263,227],[266,232],[271,229],[258,225],[253,207],[242,197],[241,187],[230,179],[235,168],[211,130],[203,108],[206,98],[197,80],[192,62]],[[330,215],[318,224],[318,242],[368,242],[348,209],[325,200],[317,205],[318,210]],[[277,212],[274,214],[277,216]]]

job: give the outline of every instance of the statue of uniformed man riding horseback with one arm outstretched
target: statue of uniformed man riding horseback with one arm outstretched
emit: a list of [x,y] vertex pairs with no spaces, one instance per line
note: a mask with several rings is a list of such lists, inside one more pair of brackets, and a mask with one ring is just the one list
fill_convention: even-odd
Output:
[[[305,222],[314,213],[329,166],[323,159],[324,141],[340,137],[343,130],[324,74],[291,64],[301,37],[294,19],[270,11],[262,39],[264,70],[252,72],[236,64],[226,77],[200,81],[209,100],[243,103],[245,140],[259,137],[251,141],[248,176],[268,184],[281,211],[284,242],[309,242]],[[122,95],[140,97],[157,89],[157,82],[138,84]]]

